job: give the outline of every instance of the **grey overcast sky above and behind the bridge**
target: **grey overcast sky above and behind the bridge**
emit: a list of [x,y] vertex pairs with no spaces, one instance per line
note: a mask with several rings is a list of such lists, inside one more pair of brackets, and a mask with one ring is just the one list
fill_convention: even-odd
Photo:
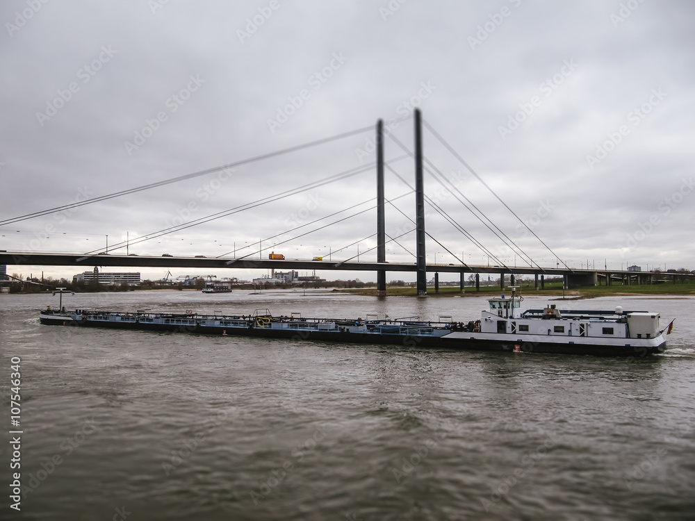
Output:
[[[374,126],[407,147],[414,106],[559,258],[695,268],[695,4],[589,1],[3,1],[0,218],[156,183]],[[368,165],[373,131],[0,226],[0,249],[75,251],[131,242]],[[429,131],[425,156],[541,265],[555,256]],[[386,140],[386,156],[404,153]],[[412,160],[393,161],[409,183]],[[386,197],[409,192],[391,172]],[[426,175],[425,192],[501,262],[505,248]],[[375,170],[132,244],[130,253],[328,256],[375,233]],[[457,194],[461,199],[461,195]],[[414,195],[393,203],[414,217]],[[386,233],[412,226],[389,206]],[[427,209],[427,231],[466,263],[478,249]],[[398,242],[414,252],[414,233]],[[254,244],[254,249],[244,247]],[[359,242],[360,251],[375,238]],[[414,262],[390,242],[389,261]],[[332,258],[357,254],[357,246]],[[427,242],[428,261],[458,263]],[[117,252],[124,252],[118,250]],[[116,253],[116,251],[115,251]],[[230,254],[231,255],[231,254]],[[258,256],[256,254],[256,256]],[[375,260],[375,250],[360,256]],[[496,261],[491,261],[497,264]],[[521,255],[517,265],[525,265]],[[8,272],[40,268],[8,267]],[[179,270],[183,274],[184,269]],[[46,267],[70,276],[76,268]],[[188,270],[190,272],[190,270]],[[160,278],[165,270],[143,269]],[[218,275],[250,279],[261,272]],[[329,279],[368,272],[320,273]],[[179,273],[174,273],[179,275]],[[414,279],[393,273],[391,279]]]

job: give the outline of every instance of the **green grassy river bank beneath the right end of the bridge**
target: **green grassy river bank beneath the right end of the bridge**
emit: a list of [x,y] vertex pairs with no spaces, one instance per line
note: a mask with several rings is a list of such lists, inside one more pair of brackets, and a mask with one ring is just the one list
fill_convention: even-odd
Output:
[[[377,295],[376,288],[361,288],[349,290],[334,290],[339,292],[350,293],[351,295]],[[434,292],[434,287],[427,287],[427,295],[430,297],[454,297],[461,295],[462,297],[475,297],[476,295],[499,295],[501,292],[499,286],[481,286],[480,292],[475,291],[474,287],[466,286],[466,292],[461,293],[458,287],[440,287],[439,293]],[[509,290],[505,288],[505,293]],[[546,283],[544,290],[534,290],[533,286],[521,288],[522,295],[552,295],[553,297],[570,299],[593,299],[595,297],[611,297],[611,296],[626,296],[626,295],[695,295],[695,282],[691,283],[667,283],[667,284],[644,284],[637,286],[621,286],[614,284],[613,286],[590,286],[587,288],[577,288],[572,290],[562,290],[561,283]],[[409,295],[415,296],[416,288],[413,287],[388,287],[386,295]]]

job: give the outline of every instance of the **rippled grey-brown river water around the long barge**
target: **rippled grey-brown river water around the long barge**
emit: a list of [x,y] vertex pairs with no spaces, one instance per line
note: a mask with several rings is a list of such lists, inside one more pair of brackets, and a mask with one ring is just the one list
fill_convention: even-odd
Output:
[[[482,297],[82,294],[113,311],[473,320]],[[554,301],[676,318],[635,361],[42,326],[0,295],[1,424],[21,358],[24,520],[692,520],[692,298]],[[528,297],[523,307],[546,304]],[[8,428],[9,427],[9,428]]]

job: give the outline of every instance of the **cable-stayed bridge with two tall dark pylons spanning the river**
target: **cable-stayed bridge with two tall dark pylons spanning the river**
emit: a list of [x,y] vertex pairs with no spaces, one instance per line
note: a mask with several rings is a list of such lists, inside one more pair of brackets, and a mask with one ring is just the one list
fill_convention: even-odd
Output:
[[[182,222],[179,225],[167,226],[164,229],[153,231],[147,235],[141,235],[134,240],[127,240],[122,242],[117,242],[115,245],[111,245],[111,250],[109,251],[108,245],[106,250],[97,249],[92,251],[85,251],[81,253],[74,254],[58,254],[49,253],[45,251],[0,251],[0,265],[36,265],[36,266],[80,266],[80,267],[93,267],[93,266],[117,266],[117,267],[190,267],[190,268],[206,268],[206,269],[220,269],[220,268],[234,268],[234,269],[274,269],[274,270],[343,270],[343,271],[368,271],[377,273],[377,292],[379,295],[386,294],[386,272],[416,272],[417,274],[417,288],[418,294],[425,295],[427,292],[427,272],[434,273],[435,286],[437,286],[439,280],[439,273],[459,273],[461,279],[461,288],[464,287],[465,277],[468,274],[475,274],[476,286],[479,287],[480,284],[480,274],[482,273],[497,273],[500,274],[500,285],[503,287],[505,281],[505,275],[512,275],[512,283],[514,283],[514,276],[521,274],[532,274],[535,276],[536,286],[543,286],[543,281],[546,276],[564,276],[565,285],[570,286],[592,286],[598,281],[598,276],[602,276],[606,283],[611,283],[612,280],[620,279],[623,283],[646,283],[650,281],[651,275],[648,273],[632,272],[629,270],[577,270],[571,269],[564,261],[562,261],[559,256],[553,252],[546,242],[543,242],[541,238],[538,237],[532,229],[529,228],[523,220],[521,220],[512,208],[509,208],[505,201],[494,192],[494,190],[487,184],[483,179],[471,168],[466,161],[461,158],[461,156],[451,147],[448,142],[446,142],[441,135],[434,129],[430,124],[422,119],[419,110],[415,110],[414,113],[414,147],[410,149],[404,143],[402,143],[398,138],[389,132],[388,129],[384,132],[384,125],[381,120],[377,122],[376,133],[375,133],[375,160],[366,165],[360,165],[359,167],[354,167],[348,169],[345,172],[339,174],[334,174],[332,176],[325,177],[318,181],[312,181],[311,183],[305,183],[304,185],[291,188],[289,190],[284,190],[267,197],[263,197],[256,201],[251,201],[247,204],[241,204],[234,208],[229,208],[222,212],[214,213],[211,215],[206,215],[196,220],[190,220],[187,222]],[[463,192],[452,183],[439,168],[432,163],[432,161],[425,158],[423,154],[423,124],[425,128],[430,131],[434,138],[441,143],[446,151],[448,151],[455,160],[457,160],[461,165],[463,165],[468,172],[470,172],[477,181],[480,181],[484,188],[489,191],[493,197],[509,212],[515,222],[520,223],[525,226],[525,230],[528,235],[535,238],[544,249],[552,254],[553,258],[556,258],[555,267],[542,267],[531,258],[526,251],[524,251],[512,238],[509,238],[502,229],[497,226],[478,206],[476,206],[473,201],[471,201]],[[229,169],[238,167],[240,165],[248,165],[250,163],[258,163],[269,158],[275,158],[278,156],[284,156],[286,154],[291,154],[295,151],[302,149],[309,149],[311,147],[316,147],[321,144],[326,144],[328,142],[334,142],[342,140],[344,138],[359,135],[361,133],[366,133],[372,131],[373,127],[365,127],[363,129],[357,129],[354,131],[341,133],[329,138],[323,138],[321,140],[316,140],[306,144],[300,144],[295,147],[290,147],[288,149],[283,149],[275,152],[270,152],[268,154],[263,154],[261,156],[255,156],[252,158],[247,158],[245,160],[240,160],[235,163],[229,163],[227,165],[221,165],[219,167],[214,167],[210,169],[204,169],[199,172],[193,172],[191,174],[186,174],[183,176],[174,177],[171,179],[166,179],[164,181],[158,181],[156,183],[149,183],[147,185],[142,185],[136,188],[131,188],[129,190],[121,190],[119,192],[113,192],[108,195],[103,195],[99,197],[93,197],[91,199],[86,199],[72,204],[67,204],[63,206],[56,206],[54,208],[47,208],[45,210],[40,210],[33,213],[28,213],[25,215],[19,215],[16,217],[11,217],[7,219],[0,220],[0,226],[7,226],[9,224],[15,224],[17,222],[23,222],[26,220],[31,220],[37,217],[42,217],[44,215],[50,215],[51,213],[64,212],[78,208],[80,206],[86,206],[89,204],[98,204],[101,201],[107,201],[109,199],[114,199],[116,197],[124,197],[136,192],[142,192],[145,190],[155,190],[165,185],[170,185],[172,183],[177,183],[179,181],[184,181],[186,179],[193,179],[199,176],[205,176],[213,172],[228,172]],[[403,151],[403,155],[395,158],[388,163],[384,161],[384,140],[389,138],[393,141],[400,149]],[[404,179],[398,172],[393,169],[392,163],[395,163],[404,158],[411,158],[414,160],[415,164],[415,179],[414,183],[410,183]],[[224,217],[230,217],[233,215],[238,215],[246,210],[252,208],[259,208],[266,204],[271,204],[275,201],[280,201],[286,197],[291,197],[298,193],[306,192],[308,190],[313,190],[318,187],[327,186],[332,183],[338,183],[339,181],[347,181],[357,174],[364,172],[375,171],[377,177],[377,196],[372,199],[367,199],[366,201],[361,201],[358,204],[352,206],[347,206],[341,210],[334,211],[329,215],[323,215],[322,217],[301,224],[300,226],[295,226],[292,229],[283,231],[282,233],[277,233],[271,237],[264,238],[259,241],[259,250],[252,251],[249,254],[243,256],[238,256],[236,251],[229,251],[220,256],[215,256],[212,258],[203,256],[144,256],[144,255],[129,255],[122,254],[124,249],[128,247],[140,244],[142,242],[147,242],[161,238],[165,235],[171,235],[176,233],[181,233],[184,230],[192,229],[195,226],[202,226],[208,222],[223,219]],[[395,175],[404,183],[404,185],[409,188],[409,192],[406,192],[398,197],[393,197],[392,199],[386,199],[384,196],[384,171],[388,170],[391,174]],[[464,226],[461,225],[460,219],[455,219],[446,212],[438,201],[427,197],[425,190],[423,188],[423,177],[427,173],[434,180],[439,183],[448,193],[454,197],[464,208],[471,213],[475,220],[479,221],[484,225],[490,233],[496,236],[505,248],[509,252],[513,252],[515,256],[525,264],[525,266],[516,267],[509,266],[500,260],[499,254],[496,255],[494,252],[483,245],[480,240],[477,240],[473,234],[471,234]],[[416,199],[416,219],[412,220],[410,217],[405,215],[402,210],[398,209],[397,206],[393,204],[394,201],[407,197],[411,194],[415,195]],[[361,206],[369,204],[370,206],[366,209],[359,209]],[[414,229],[409,229],[404,233],[395,235],[391,237],[386,235],[385,230],[385,217],[384,209],[386,204],[389,204],[398,210],[404,217],[406,217],[414,225]],[[488,265],[472,265],[470,263],[465,263],[462,256],[459,257],[457,254],[452,252],[452,249],[442,242],[437,240],[429,231],[425,229],[425,205],[428,205],[434,212],[441,215],[443,219],[448,222],[455,230],[457,230],[468,242],[471,242],[475,249],[486,255],[492,263]],[[277,258],[280,256],[269,256],[270,258],[265,258],[268,255],[268,250],[270,247],[263,248],[263,242],[268,245],[272,243],[272,247],[277,249],[280,245],[292,245],[293,241],[301,240],[302,237],[309,235],[311,233],[317,233],[324,231],[324,233],[329,233],[331,226],[335,226],[341,222],[350,220],[352,217],[361,215],[370,210],[376,210],[377,222],[375,226],[375,233],[370,233],[366,239],[376,238],[377,245],[367,251],[363,251],[362,255],[367,254],[369,251],[376,250],[376,262],[374,261],[359,261],[359,255],[357,260],[355,257],[340,258],[341,250],[345,251],[347,247],[359,243],[361,240],[352,242],[345,248],[341,248],[332,252],[329,258],[321,258],[320,260],[301,260],[301,259],[285,259]],[[352,213],[350,213],[352,212]],[[347,215],[346,215],[347,214]],[[329,222],[327,222],[327,220]],[[413,254],[411,251],[409,253],[416,258],[414,263],[404,263],[404,262],[388,262],[386,261],[386,245],[395,244],[406,251],[398,240],[402,236],[414,232],[416,235],[416,252]],[[289,238],[286,238],[289,235]],[[281,238],[282,240],[279,240]],[[436,264],[427,263],[425,255],[425,244],[426,240],[429,239],[431,242],[436,243],[439,247],[444,249],[450,254],[457,262],[447,263],[447,264]],[[108,240],[108,239],[107,239]],[[458,249],[457,249],[458,251]],[[120,253],[116,253],[120,252]],[[343,253],[344,255],[344,253]],[[515,263],[516,264],[516,263]]]

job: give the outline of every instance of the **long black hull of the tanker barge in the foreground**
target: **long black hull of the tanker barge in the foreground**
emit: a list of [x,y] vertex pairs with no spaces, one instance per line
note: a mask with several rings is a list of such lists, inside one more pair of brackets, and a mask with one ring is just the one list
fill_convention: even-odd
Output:
[[[244,336],[277,340],[314,340],[342,344],[393,345],[402,347],[434,347],[475,351],[574,354],[592,356],[621,356],[641,358],[664,352],[666,342],[657,346],[586,345],[567,342],[517,342],[516,340],[487,340],[484,338],[447,338],[446,336],[404,336],[390,333],[350,333],[348,331],[307,331],[302,329],[272,329],[271,327],[224,327],[174,325],[152,322],[110,322],[101,320],[63,320],[41,317],[42,324],[58,326],[133,329],[167,333],[196,333],[211,336]],[[478,336],[484,333],[477,333]]]

